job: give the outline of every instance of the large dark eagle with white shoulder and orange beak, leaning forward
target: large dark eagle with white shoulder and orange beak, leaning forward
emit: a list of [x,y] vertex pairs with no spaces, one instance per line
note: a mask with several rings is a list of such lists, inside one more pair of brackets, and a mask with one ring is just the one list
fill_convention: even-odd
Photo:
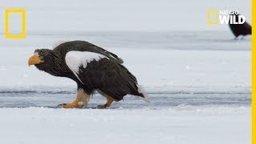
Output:
[[112,102],[122,100],[126,94],[150,102],[135,76],[122,65],[122,59],[90,42],[71,41],[56,46],[54,50],[34,50],[28,64],[56,77],[77,82],[77,97],[74,102],[58,105],[63,108],[87,106],[90,96],[96,91],[106,98],[106,104],[98,105],[98,109],[110,107]]

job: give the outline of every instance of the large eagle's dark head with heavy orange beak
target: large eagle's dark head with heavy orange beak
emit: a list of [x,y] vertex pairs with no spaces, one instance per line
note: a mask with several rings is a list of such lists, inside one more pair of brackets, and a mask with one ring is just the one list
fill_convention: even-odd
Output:
[[39,70],[43,70],[48,72],[48,70],[53,69],[56,67],[56,63],[54,62],[54,59],[56,57],[56,54],[53,50],[48,49],[38,49],[34,50],[34,55],[30,57],[29,59],[29,66],[34,65]]

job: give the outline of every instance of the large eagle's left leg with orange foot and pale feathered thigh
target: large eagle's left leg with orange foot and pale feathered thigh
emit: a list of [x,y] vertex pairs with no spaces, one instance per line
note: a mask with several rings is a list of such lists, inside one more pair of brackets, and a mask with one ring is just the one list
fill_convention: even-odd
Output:
[[[68,104],[60,104],[58,106],[61,106],[63,108],[79,108],[81,109],[83,106],[87,106],[88,102],[90,100],[90,94],[86,94],[84,90],[78,89],[78,95],[77,98],[74,100],[74,102],[68,103]],[[82,105],[79,104],[79,102],[82,102]]]

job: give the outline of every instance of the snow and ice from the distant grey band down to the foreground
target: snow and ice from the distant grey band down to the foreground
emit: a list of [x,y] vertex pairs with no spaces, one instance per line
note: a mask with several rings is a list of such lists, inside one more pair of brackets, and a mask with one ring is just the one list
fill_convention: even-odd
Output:
[[[95,94],[83,110],[54,109],[74,100],[76,84],[29,67],[27,60],[34,49],[61,39],[86,39],[118,54],[154,106],[127,96],[96,110],[106,100]],[[90,32],[32,34],[0,45],[2,142],[250,143],[250,37]]]

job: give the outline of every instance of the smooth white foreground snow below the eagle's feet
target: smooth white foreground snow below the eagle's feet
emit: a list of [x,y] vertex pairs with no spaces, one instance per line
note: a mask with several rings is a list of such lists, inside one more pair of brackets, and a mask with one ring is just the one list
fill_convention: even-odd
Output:
[[249,107],[0,109],[2,143],[250,143]]

